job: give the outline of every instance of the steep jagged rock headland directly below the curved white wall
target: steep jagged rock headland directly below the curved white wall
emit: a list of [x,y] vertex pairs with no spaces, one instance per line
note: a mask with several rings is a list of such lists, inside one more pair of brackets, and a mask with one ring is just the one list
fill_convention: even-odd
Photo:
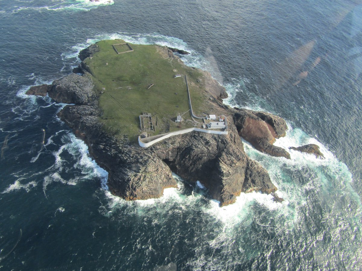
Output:
[[227,136],[193,132],[155,144],[151,150],[189,181],[200,181],[220,205],[235,202],[241,192],[277,190],[260,164],[244,152],[235,126]]

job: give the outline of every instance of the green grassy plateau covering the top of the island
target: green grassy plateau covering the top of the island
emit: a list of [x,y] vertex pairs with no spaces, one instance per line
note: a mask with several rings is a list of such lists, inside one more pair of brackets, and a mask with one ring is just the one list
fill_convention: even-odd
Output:
[[[207,111],[205,93],[196,82],[202,78],[201,72],[161,56],[155,45],[130,44],[134,52],[118,55],[112,45],[122,42],[102,40],[97,43],[100,51],[85,60],[94,74],[98,91],[102,92],[100,121],[108,132],[119,137],[126,135],[136,142],[142,132],[139,124],[142,112],[151,113],[154,120],[157,117],[156,131],[148,132],[151,135],[195,126],[187,121],[191,120],[189,112],[182,116],[186,121],[181,123],[181,128],[174,122],[177,115],[189,110],[185,80],[174,78],[175,74],[188,76],[194,113],[199,116],[201,112],[214,113]],[[152,83],[154,86],[147,90]]]

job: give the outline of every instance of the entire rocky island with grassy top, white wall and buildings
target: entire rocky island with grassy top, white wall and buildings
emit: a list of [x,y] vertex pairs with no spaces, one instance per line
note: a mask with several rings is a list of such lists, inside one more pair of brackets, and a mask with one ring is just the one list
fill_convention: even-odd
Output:
[[240,137],[262,152],[290,159],[273,145],[285,136],[286,122],[226,106],[225,89],[174,52],[187,53],[102,40],[79,53],[81,64],[72,74],[31,87],[28,94],[70,104],[58,116],[84,140],[90,156],[109,173],[111,193],[121,198],[161,197],[165,188],[177,187],[173,171],[201,182],[220,206],[254,190],[282,201],[268,172],[245,154]]

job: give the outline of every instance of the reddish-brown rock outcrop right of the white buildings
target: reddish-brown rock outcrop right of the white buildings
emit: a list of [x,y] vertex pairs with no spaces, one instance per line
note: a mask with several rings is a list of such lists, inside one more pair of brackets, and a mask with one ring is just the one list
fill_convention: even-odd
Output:
[[[266,120],[269,118],[268,123],[259,116]],[[287,129],[285,121],[283,122],[280,119],[270,113],[240,108],[237,108],[237,112],[233,116],[239,135],[250,142],[257,150],[272,156],[290,159],[289,152],[273,145],[275,137],[285,135]]]

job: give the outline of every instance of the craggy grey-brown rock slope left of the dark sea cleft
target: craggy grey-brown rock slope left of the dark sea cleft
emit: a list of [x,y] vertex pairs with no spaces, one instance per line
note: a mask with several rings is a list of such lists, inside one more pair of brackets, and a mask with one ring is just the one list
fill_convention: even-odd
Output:
[[129,145],[110,136],[98,121],[97,106],[66,106],[58,113],[83,140],[90,155],[108,173],[108,186],[112,194],[135,200],[158,198],[163,190],[177,187],[170,168],[148,149]]

